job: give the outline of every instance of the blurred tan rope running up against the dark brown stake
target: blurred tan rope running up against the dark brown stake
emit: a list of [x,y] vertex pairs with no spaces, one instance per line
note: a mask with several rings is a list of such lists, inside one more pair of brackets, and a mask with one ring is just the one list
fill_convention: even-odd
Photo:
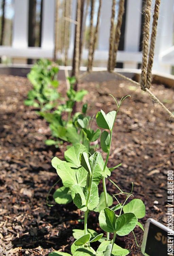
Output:
[[76,25],[76,45],[75,45],[75,77],[79,76],[79,61],[80,61],[80,22],[81,22],[81,0],[77,0],[77,25]]

